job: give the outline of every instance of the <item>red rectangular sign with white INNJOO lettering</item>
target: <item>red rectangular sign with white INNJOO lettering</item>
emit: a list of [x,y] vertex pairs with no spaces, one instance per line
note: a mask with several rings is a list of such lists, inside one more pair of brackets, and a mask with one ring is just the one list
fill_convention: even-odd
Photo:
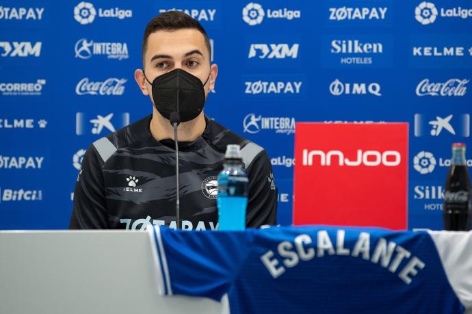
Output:
[[299,122],[293,224],[407,228],[408,124]]

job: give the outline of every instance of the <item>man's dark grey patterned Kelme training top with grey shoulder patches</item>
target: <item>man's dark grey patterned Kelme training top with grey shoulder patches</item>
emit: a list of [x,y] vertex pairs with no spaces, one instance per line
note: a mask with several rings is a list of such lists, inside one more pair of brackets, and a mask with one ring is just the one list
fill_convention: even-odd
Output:
[[[175,143],[157,141],[151,116],[94,142],[83,157],[74,192],[71,229],[175,228]],[[276,223],[277,190],[267,153],[205,117],[194,142],[179,142],[181,228],[218,227],[216,176],[227,144],[239,144],[249,177],[248,227]]]

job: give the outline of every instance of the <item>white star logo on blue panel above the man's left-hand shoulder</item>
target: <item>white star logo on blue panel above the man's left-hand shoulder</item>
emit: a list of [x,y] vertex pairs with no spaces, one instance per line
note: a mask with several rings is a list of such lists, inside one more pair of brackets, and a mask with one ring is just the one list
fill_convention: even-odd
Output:
[[102,131],[110,133],[127,125],[129,125],[129,112],[116,115],[113,112],[103,115],[83,112],[75,114],[75,134],[77,135],[100,135]]

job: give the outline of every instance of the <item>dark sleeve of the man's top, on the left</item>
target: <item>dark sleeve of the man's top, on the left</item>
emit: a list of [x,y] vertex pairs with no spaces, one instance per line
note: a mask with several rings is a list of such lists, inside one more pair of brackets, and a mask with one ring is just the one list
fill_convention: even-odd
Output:
[[83,156],[81,170],[77,176],[69,229],[108,228],[101,166],[103,160],[92,144]]

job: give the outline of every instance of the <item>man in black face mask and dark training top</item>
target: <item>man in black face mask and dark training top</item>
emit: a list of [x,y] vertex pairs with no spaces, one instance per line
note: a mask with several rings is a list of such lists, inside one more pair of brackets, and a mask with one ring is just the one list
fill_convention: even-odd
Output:
[[150,97],[153,114],[90,145],[77,178],[69,228],[176,228],[175,142],[169,120],[176,111],[181,120],[179,226],[218,228],[215,184],[227,144],[241,146],[248,172],[246,225],[275,224],[277,191],[267,153],[203,113],[218,75],[210,55],[205,29],[187,14],[166,12],[148,23],[144,69],[135,70],[135,80]]

